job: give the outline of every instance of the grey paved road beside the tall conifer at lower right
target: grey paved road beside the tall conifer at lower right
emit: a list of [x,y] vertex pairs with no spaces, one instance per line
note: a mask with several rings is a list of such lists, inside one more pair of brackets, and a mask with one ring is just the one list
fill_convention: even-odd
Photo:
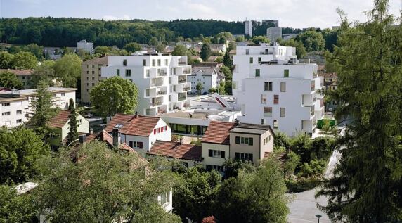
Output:
[[[344,129],[341,134],[344,134]],[[334,170],[337,160],[339,160],[340,154],[338,151],[334,151],[328,163],[328,168],[325,171],[324,177],[329,178],[332,176],[332,170]],[[306,223],[317,222],[316,215],[320,214],[323,217],[320,218],[321,223],[330,222],[325,213],[318,210],[316,204],[326,205],[327,199],[320,196],[318,199],[314,198],[317,189],[311,189],[310,191],[304,191],[301,193],[294,193],[293,202],[289,205],[290,215],[287,216],[288,222],[292,223]]]

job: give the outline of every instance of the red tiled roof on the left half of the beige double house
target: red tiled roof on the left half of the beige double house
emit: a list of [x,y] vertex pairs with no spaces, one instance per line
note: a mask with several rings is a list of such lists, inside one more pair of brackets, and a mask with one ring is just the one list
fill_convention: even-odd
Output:
[[209,122],[202,142],[211,144],[229,144],[229,133],[237,124],[235,122]]

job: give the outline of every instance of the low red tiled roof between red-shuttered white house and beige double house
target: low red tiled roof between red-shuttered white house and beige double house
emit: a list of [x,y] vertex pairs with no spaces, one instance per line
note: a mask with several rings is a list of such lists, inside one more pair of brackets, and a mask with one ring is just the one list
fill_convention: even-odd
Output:
[[180,144],[171,141],[155,141],[149,155],[162,155],[169,158],[202,161],[201,146],[193,144]]

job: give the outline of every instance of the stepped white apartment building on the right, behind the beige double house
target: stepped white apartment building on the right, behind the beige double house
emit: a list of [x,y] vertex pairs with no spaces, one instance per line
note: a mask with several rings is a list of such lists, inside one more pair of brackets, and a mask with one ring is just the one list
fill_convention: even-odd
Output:
[[240,122],[268,124],[289,136],[313,132],[324,113],[316,64],[297,63],[291,46],[266,44],[238,46],[233,63]]

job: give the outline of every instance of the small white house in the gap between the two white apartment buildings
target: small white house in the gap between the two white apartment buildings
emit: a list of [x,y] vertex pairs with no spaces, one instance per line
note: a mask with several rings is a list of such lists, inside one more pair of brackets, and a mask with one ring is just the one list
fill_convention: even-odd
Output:
[[194,66],[191,75],[187,76],[187,82],[191,83],[191,93],[197,94],[196,86],[200,82],[203,89],[201,94],[208,94],[209,89],[219,87],[219,83],[225,81],[225,77],[219,71],[219,68],[214,66]]

